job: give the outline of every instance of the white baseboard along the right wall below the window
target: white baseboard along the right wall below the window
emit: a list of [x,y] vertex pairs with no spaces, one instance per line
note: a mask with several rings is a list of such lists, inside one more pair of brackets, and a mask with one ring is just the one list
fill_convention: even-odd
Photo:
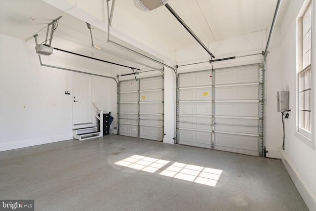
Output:
[[311,211],[316,210],[316,196],[313,193],[313,191],[309,188],[309,186],[306,184],[300,173],[294,168],[294,166],[291,164],[287,156],[284,154],[283,151],[280,151],[280,154],[282,156],[281,161],[283,165],[285,166],[285,169],[291,176],[298,192],[301,194],[305,204],[307,205],[308,209]]

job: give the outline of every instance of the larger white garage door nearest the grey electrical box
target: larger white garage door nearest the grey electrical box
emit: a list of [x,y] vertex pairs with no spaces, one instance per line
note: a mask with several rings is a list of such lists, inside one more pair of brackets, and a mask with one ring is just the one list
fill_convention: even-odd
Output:
[[259,64],[179,74],[177,142],[262,156]]

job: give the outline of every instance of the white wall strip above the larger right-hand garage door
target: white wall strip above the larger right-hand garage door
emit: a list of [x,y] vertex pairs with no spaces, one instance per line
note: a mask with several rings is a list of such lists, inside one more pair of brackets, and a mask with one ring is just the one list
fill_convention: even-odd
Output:
[[[261,53],[266,44],[266,30],[250,33],[244,36],[208,43],[208,48],[216,56],[214,59],[221,59],[233,56],[244,56]],[[175,62],[177,65],[206,62],[196,65],[182,66],[178,72],[188,72],[197,70],[208,70],[211,64],[207,61],[211,59],[207,52],[200,46],[178,49],[175,52]],[[246,64],[262,63],[262,55],[239,57],[236,59],[213,62],[213,68],[223,68]]]

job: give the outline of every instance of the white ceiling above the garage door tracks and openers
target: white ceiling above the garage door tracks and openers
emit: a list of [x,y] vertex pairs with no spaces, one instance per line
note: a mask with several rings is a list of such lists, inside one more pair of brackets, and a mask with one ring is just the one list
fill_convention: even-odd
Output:
[[[282,0],[276,26],[281,24],[288,1]],[[269,31],[276,2],[169,0],[168,4],[206,44],[264,29]],[[106,57],[108,61],[122,62],[118,57],[109,54],[105,56],[104,52],[91,48],[90,32],[85,23],[89,22],[94,28],[92,33],[95,44],[129,58],[138,58],[107,44],[106,4],[106,0],[0,0],[0,33],[33,43],[32,36],[39,34],[39,42],[43,42],[47,24],[63,16],[54,33],[52,46],[87,56],[93,53],[93,56],[100,59]],[[156,55],[172,55],[176,49],[197,45],[196,40],[167,8],[161,6],[143,12],[134,6],[133,0],[116,0],[110,35],[111,39],[128,47],[133,44],[145,51],[157,51]],[[114,39],[114,36],[121,40]],[[151,53],[150,50],[148,52]]]

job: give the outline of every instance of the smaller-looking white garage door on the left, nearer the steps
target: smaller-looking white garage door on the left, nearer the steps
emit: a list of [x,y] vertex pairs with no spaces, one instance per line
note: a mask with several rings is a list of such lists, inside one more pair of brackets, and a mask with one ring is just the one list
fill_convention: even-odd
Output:
[[162,141],[163,78],[119,82],[118,134]]

